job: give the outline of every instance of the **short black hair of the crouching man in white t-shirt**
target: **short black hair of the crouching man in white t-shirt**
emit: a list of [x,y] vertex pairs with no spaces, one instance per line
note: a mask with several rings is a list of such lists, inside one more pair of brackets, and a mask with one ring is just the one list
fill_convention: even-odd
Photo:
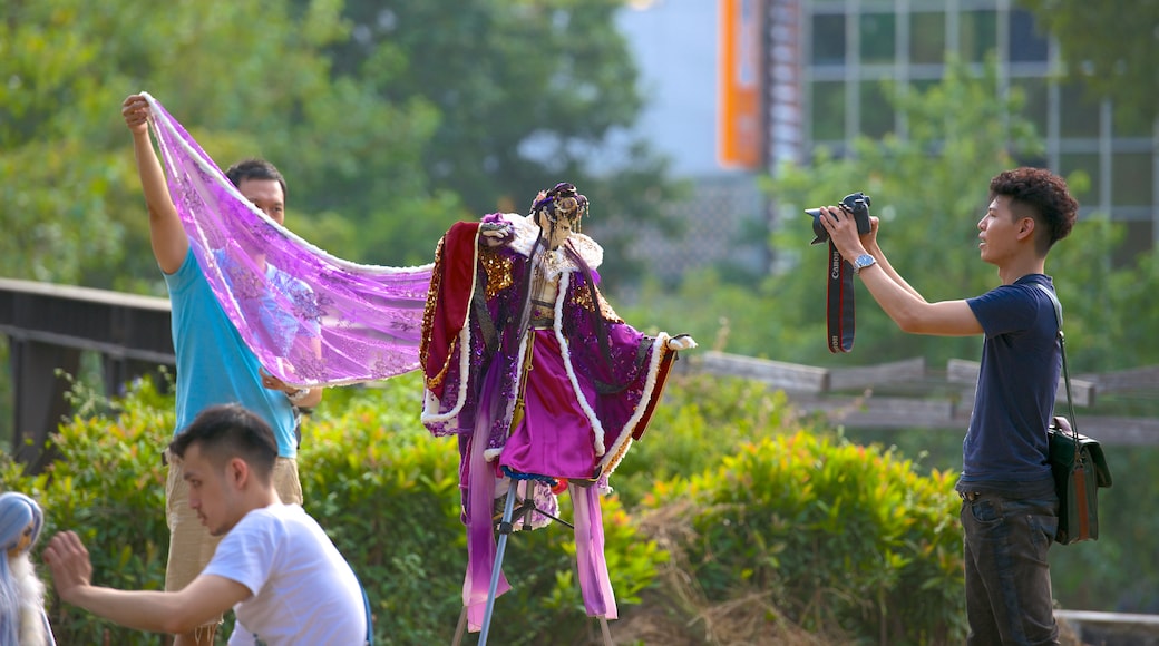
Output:
[[241,404],[203,410],[169,442],[169,452],[184,457],[195,443],[214,465],[224,467],[229,460],[240,457],[264,482],[270,480],[278,458],[278,443],[270,425]]

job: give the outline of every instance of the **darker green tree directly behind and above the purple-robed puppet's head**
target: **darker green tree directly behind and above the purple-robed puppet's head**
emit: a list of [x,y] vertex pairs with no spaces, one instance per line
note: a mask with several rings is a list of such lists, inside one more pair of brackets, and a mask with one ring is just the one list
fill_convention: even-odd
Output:
[[585,230],[598,230],[608,251],[602,273],[627,279],[641,269],[624,252],[634,225],[661,219],[686,189],[666,179],[668,162],[641,141],[622,163],[597,156],[643,104],[614,24],[622,5],[349,0],[352,37],[328,51],[335,75],[373,80],[392,104],[436,108],[422,169],[437,194],[459,196],[472,216],[524,213],[539,190],[573,182],[592,201]]

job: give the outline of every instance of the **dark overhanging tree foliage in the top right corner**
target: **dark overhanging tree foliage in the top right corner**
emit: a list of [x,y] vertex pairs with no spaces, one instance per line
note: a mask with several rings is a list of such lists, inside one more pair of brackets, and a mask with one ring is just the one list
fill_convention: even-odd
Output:
[[1159,2],[1022,0],[1055,37],[1069,79],[1144,127],[1159,118]]

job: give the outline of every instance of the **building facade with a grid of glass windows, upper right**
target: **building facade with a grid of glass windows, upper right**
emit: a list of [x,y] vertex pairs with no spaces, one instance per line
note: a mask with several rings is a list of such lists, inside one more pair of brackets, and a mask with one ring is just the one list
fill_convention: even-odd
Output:
[[[839,152],[858,134],[904,137],[883,80],[923,89],[942,79],[950,56],[981,67],[992,54],[997,96],[1021,89],[1023,116],[1045,141],[1044,157],[1019,161],[1063,176],[1085,172],[1084,215],[1125,225],[1125,255],[1159,242],[1159,124],[1058,82],[1057,44],[1012,0],[766,0],[765,7],[771,61],[777,15],[800,15],[802,160],[818,145]],[[766,135],[774,129],[771,122]]]

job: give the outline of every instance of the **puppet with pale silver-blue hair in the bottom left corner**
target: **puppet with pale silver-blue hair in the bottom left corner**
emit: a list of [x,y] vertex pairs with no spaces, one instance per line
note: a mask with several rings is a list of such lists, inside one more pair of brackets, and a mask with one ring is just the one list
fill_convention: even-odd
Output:
[[44,527],[44,513],[23,493],[0,494],[0,646],[53,645],[44,612],[44,583],[29,552]]

